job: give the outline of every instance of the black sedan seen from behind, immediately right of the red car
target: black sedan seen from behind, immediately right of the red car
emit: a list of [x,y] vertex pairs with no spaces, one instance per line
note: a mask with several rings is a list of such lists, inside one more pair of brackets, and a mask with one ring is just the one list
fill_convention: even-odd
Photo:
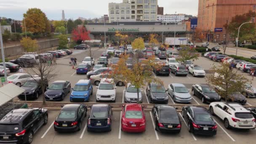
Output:
[[152,108],[152,114],[155,120],[155,130],[160,132],[174,132],[181,131],[181,120],[179,118],[177,108],[157,104]]

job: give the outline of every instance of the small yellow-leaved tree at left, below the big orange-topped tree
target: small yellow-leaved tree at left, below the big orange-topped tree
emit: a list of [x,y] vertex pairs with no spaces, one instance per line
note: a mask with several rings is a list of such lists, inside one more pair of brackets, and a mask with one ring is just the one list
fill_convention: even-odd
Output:
[[20,42],[26,52],[35,52],[38,49],[37,40],[32,40],[30,37],[23,37]]

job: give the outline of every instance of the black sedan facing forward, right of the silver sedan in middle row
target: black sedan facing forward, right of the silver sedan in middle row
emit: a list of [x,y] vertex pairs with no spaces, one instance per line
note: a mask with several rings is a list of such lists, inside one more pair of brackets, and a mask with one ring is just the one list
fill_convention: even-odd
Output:
[[197,96],[203,103],[221,101],[221,96],[216,91],[213,91],[209,85],[195,84],[192,85],[191,91],[192,95]]

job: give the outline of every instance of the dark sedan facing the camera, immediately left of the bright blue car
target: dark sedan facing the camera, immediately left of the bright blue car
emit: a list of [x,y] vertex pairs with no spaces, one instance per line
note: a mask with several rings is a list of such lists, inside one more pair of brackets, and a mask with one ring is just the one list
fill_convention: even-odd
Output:
[[69,81],[54,81],[45,91],[45,99],[47,101],[62,101],[70,91],[71,84]]

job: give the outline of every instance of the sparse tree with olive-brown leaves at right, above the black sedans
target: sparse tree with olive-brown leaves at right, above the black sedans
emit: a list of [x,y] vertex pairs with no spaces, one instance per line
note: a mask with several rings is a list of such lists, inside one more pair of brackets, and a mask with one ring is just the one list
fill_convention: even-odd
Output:
[[217,93],[224,99],[232,99],[233,94],[243,93],[245,84],[250,81],[237,70],[230,70],[229,64],[213,65],[211,73],[206,77],[207,83],[211,87],[218,89]]

